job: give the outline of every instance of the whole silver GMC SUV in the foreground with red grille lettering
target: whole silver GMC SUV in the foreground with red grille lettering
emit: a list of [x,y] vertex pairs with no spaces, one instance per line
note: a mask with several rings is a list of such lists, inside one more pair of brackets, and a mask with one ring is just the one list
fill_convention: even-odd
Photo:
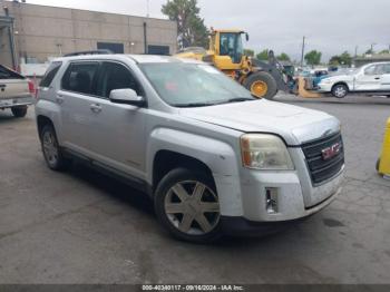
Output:
[[255,99],[206,64],[67,57],[42,84],[36,115],[48,166],[79,159],[126,178],[181,240],[273,231],[340,192],[337,118]]

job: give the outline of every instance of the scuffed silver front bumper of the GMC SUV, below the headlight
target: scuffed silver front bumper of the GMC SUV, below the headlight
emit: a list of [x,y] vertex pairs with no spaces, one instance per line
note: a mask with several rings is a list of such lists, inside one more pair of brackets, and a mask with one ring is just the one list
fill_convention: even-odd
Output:
[[[220,194],[221,215],[250,222],[286,222],[310,216],[338,197],[343,169],[321,186],[291,172],[253,172],[243,169],[238,177],[214,177]],[[308,182],[305,182],[308,181]],[[310,185],[310,187],[306,187]],[[276,212],[267,208],[267,191],[275,189]],[[308,197],[310,199],[308,199]]]

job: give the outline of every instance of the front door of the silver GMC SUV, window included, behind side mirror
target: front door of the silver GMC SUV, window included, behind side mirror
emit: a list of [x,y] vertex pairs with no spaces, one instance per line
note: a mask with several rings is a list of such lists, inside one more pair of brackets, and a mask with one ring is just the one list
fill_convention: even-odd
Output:
[[109,100],[115,89],[130,88],[143,95],[139,84],[126,65],[105,61],[97,81],[96,104],[99,108],[91,117],[90,149],[94,158],[105,166],[144,178],[145,115],[147,109],[118,105]]

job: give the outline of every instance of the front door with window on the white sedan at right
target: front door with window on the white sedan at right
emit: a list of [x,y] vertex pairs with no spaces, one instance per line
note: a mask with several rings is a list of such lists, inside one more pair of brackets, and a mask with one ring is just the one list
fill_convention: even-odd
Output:
[[378,72],[378,65],[364,68],[354,81],[357,91],[379,91],[381,89],[381,75]]

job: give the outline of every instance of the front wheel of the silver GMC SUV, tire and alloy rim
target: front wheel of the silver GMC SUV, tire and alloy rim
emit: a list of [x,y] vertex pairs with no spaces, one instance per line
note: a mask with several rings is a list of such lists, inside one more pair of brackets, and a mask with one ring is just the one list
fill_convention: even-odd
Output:
[[209,243],[222,234],[215,184],[204,173],[170,171],[157,186],[155,211],[163,226],[178,240]]

